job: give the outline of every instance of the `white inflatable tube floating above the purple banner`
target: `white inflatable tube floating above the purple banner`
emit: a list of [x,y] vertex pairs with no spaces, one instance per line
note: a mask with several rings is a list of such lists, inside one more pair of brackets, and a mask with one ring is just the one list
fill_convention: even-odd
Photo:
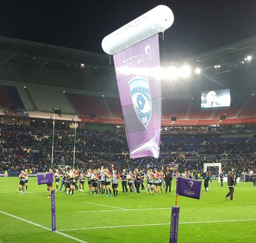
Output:
[[173,20],[173,12],[168,6],[156,6],[156,8],[104,37],[101,43],[102,49],[107,54],[114,55],[131,45],[141,42],[141,40],[164,32],[172,26]]

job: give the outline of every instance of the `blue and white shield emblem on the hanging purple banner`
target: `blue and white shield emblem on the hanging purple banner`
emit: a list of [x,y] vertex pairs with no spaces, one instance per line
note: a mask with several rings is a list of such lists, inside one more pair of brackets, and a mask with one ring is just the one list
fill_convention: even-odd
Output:
[[148,122],[152,116],[152,101],[148,79],[134,77],[129,81],[129,89],[134,111],[145,129],[147,129]]

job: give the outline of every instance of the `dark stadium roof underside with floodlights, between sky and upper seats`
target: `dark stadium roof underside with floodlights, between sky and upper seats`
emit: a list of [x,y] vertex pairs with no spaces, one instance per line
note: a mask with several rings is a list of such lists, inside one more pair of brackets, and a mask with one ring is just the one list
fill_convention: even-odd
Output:
[[[9,74],[9,80],[81,90],[117,91],[113,58],[105,54],[0,36],[0,55],[0,68],[7,67],[6,65],[12,63],[12,65],[17,67],[21,65],[27,69],[24,77],[12,77]],[[244,60],[248,55],[252,56],[250,62]],[[253,58],[256,60],[256,36],[188,57],[179,63],[165,58],[161,63],[163,67],[188,63],[191,68],[201,68],[203,75],[200,77],[191,75],[189,79],[194,82],[190,82],[190,84],[162,82],[163,94],[191,94],[198,88],[201,90],[212,88],[240,90],[241,79],[248,81],[246,84],[243,83],[243,88],[253,90],[255,89]],[[214,67],[218,65],[220,67]],[[58,70],[61,74],[65,74],[61,75],[61,82],[58,77],[45,79],[44,75],[49,70]],[[7,78],[1,74],[0,79]]]

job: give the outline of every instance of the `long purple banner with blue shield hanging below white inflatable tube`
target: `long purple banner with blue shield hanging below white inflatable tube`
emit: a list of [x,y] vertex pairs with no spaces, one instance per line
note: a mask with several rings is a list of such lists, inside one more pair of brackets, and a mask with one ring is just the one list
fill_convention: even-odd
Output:
[[158,36],[118,52],[114,61],[130,157],[158,158],[162,102]]

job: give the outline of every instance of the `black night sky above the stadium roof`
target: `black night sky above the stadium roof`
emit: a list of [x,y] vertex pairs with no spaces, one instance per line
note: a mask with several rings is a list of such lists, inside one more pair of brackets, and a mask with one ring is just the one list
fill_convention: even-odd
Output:
[[159,4],[175,18],[162,44],[170,59],[256,35],[255,0],[0,0],[0,36],[104,53],[104,36]]

